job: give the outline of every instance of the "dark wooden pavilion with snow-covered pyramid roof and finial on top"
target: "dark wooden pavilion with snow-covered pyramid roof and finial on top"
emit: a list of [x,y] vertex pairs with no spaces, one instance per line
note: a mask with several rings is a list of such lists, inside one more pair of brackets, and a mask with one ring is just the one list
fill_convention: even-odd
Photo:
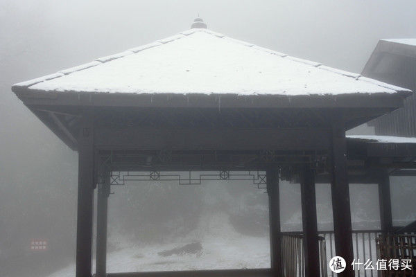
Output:
[[[416,157],[413,141],[380,145],[345,136],[347,129],[401,107],[408,89],[232,39],[208,30],[202,19],[191,30],[20,82],[12,91],[78,151],[77,277],[92,276],[96,188],[96,276],[106,274],[112,172],[145,171],[157,180],[169,170],[215,170],[218,179],[227,179],[230,170],[266,171],[271,269],[180,276],[283,276],[279,179],[300,179],[306,276],[320,276],[315,177],[331,182],[336,254],[350,265],[349,171],[356,181],[385,184],[379,170],[411,168]],[[388,193],[386,186],[383,191]],[[385,231],[391,227],[388,205]],[[347,267],[339,276],[354,271]]]

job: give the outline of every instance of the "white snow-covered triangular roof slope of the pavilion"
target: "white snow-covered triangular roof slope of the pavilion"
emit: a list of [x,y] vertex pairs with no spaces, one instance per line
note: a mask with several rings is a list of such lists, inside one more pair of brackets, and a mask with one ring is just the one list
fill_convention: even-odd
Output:
[[204,28],[13,87],[58,92],[287,96],[408,91]]

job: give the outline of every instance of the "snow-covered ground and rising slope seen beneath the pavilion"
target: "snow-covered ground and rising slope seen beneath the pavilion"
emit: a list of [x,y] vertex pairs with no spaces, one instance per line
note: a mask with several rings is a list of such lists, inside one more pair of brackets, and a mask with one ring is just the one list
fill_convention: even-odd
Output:
[[[229,224],[227,214],[202,215],[196,230],[174,240],[167,244],[139,244],[117,238],[119,250],[107,254],[107,272],[270,268],[268,235],[259,238],[237,233]],[[200,242],[202,251],[182,256],[158,255],[191,242]],[[93,265],[95,271],[95,260]],[[74,264],[49,277],[73,276]]]

